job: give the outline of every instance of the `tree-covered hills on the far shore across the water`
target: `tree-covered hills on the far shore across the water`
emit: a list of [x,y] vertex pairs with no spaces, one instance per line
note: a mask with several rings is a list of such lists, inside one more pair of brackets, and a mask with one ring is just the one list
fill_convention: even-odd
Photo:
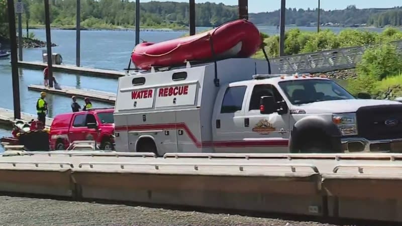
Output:
[[[184,1],[184,0],[183,0]],[[7,1],[0,0],[0,36],[7,37]],[[23,20],[30,26],[45,24],[43,0],[23,0],[25,13]],[[75,27],[75,0],[50,0],[51,26]],[[196,25],[212,27],[235,20],[237,6],[224,4],[196,4]],[[141,3],[141,27],[183,29],[188,25],[188,4],[176,2]],[[279,24],[279,10],[268,13],[250,14],[250,20],[257,25]],[[134,27],[135,2],[128,0],[81,0],[82,28],[130,28]],[[317,10],[287,9],[286,24],[310,26],[317,22]],[[402,26],[402,8],[388,10],[356,9],[349,6],[345,10],[322,11],[321,23],[329,26]],[[25,25],[25,23],[23,23]]]

